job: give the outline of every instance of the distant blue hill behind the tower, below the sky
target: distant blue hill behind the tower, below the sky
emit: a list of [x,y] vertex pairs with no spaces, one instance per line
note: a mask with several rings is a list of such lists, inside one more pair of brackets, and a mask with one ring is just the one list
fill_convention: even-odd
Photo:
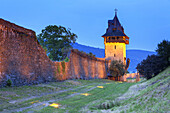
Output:
[[[78,43],[73,44],[74,49],[78,49],[79,51],[84,51],[86,53],[92,52],[96,57],[104,58],[104,49],[90,47],[81,45]],[[130,59],[129,72],[136,72],[136,66],[143,59],[146,59],[148,55],[156,54],[156,52],[145,51],[145,50],[127,50],[126,55],[127,58]]]

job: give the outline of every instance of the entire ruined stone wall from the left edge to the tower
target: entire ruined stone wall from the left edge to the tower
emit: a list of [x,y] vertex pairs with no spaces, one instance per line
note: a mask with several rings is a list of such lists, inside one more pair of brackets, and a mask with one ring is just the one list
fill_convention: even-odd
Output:
[[0,87],[66,79],[105,78],[104,59],[72,50],[69,62],[51,61],[38,43],[35,32],[0,19]]

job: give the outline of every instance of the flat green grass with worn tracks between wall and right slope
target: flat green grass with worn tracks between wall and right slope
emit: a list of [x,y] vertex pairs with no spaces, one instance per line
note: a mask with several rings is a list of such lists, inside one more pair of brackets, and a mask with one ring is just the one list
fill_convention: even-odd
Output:
[[[105,79],[66,80],[33,86],[0,89],[0,112],[77,113],[93,111],[106,101],[113,101],[135,83]],[[84,93],[89,94],[82,95]],[[50,106],[59,104],[58,108]]]

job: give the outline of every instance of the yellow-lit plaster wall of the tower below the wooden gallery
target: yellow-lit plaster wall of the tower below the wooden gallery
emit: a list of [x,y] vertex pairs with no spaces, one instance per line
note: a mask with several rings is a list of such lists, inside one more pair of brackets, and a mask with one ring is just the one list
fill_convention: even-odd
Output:
[[121,60],[126,64],[126,44],[105,43],[105,58],[110,60]]

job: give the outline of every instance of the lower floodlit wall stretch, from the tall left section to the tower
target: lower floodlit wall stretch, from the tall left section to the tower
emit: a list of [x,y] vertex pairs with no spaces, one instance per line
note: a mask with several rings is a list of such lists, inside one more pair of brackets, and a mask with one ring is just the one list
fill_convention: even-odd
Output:
[[105,59],[72,50],[69,62],[54,62],[58,80],[106,78]]

